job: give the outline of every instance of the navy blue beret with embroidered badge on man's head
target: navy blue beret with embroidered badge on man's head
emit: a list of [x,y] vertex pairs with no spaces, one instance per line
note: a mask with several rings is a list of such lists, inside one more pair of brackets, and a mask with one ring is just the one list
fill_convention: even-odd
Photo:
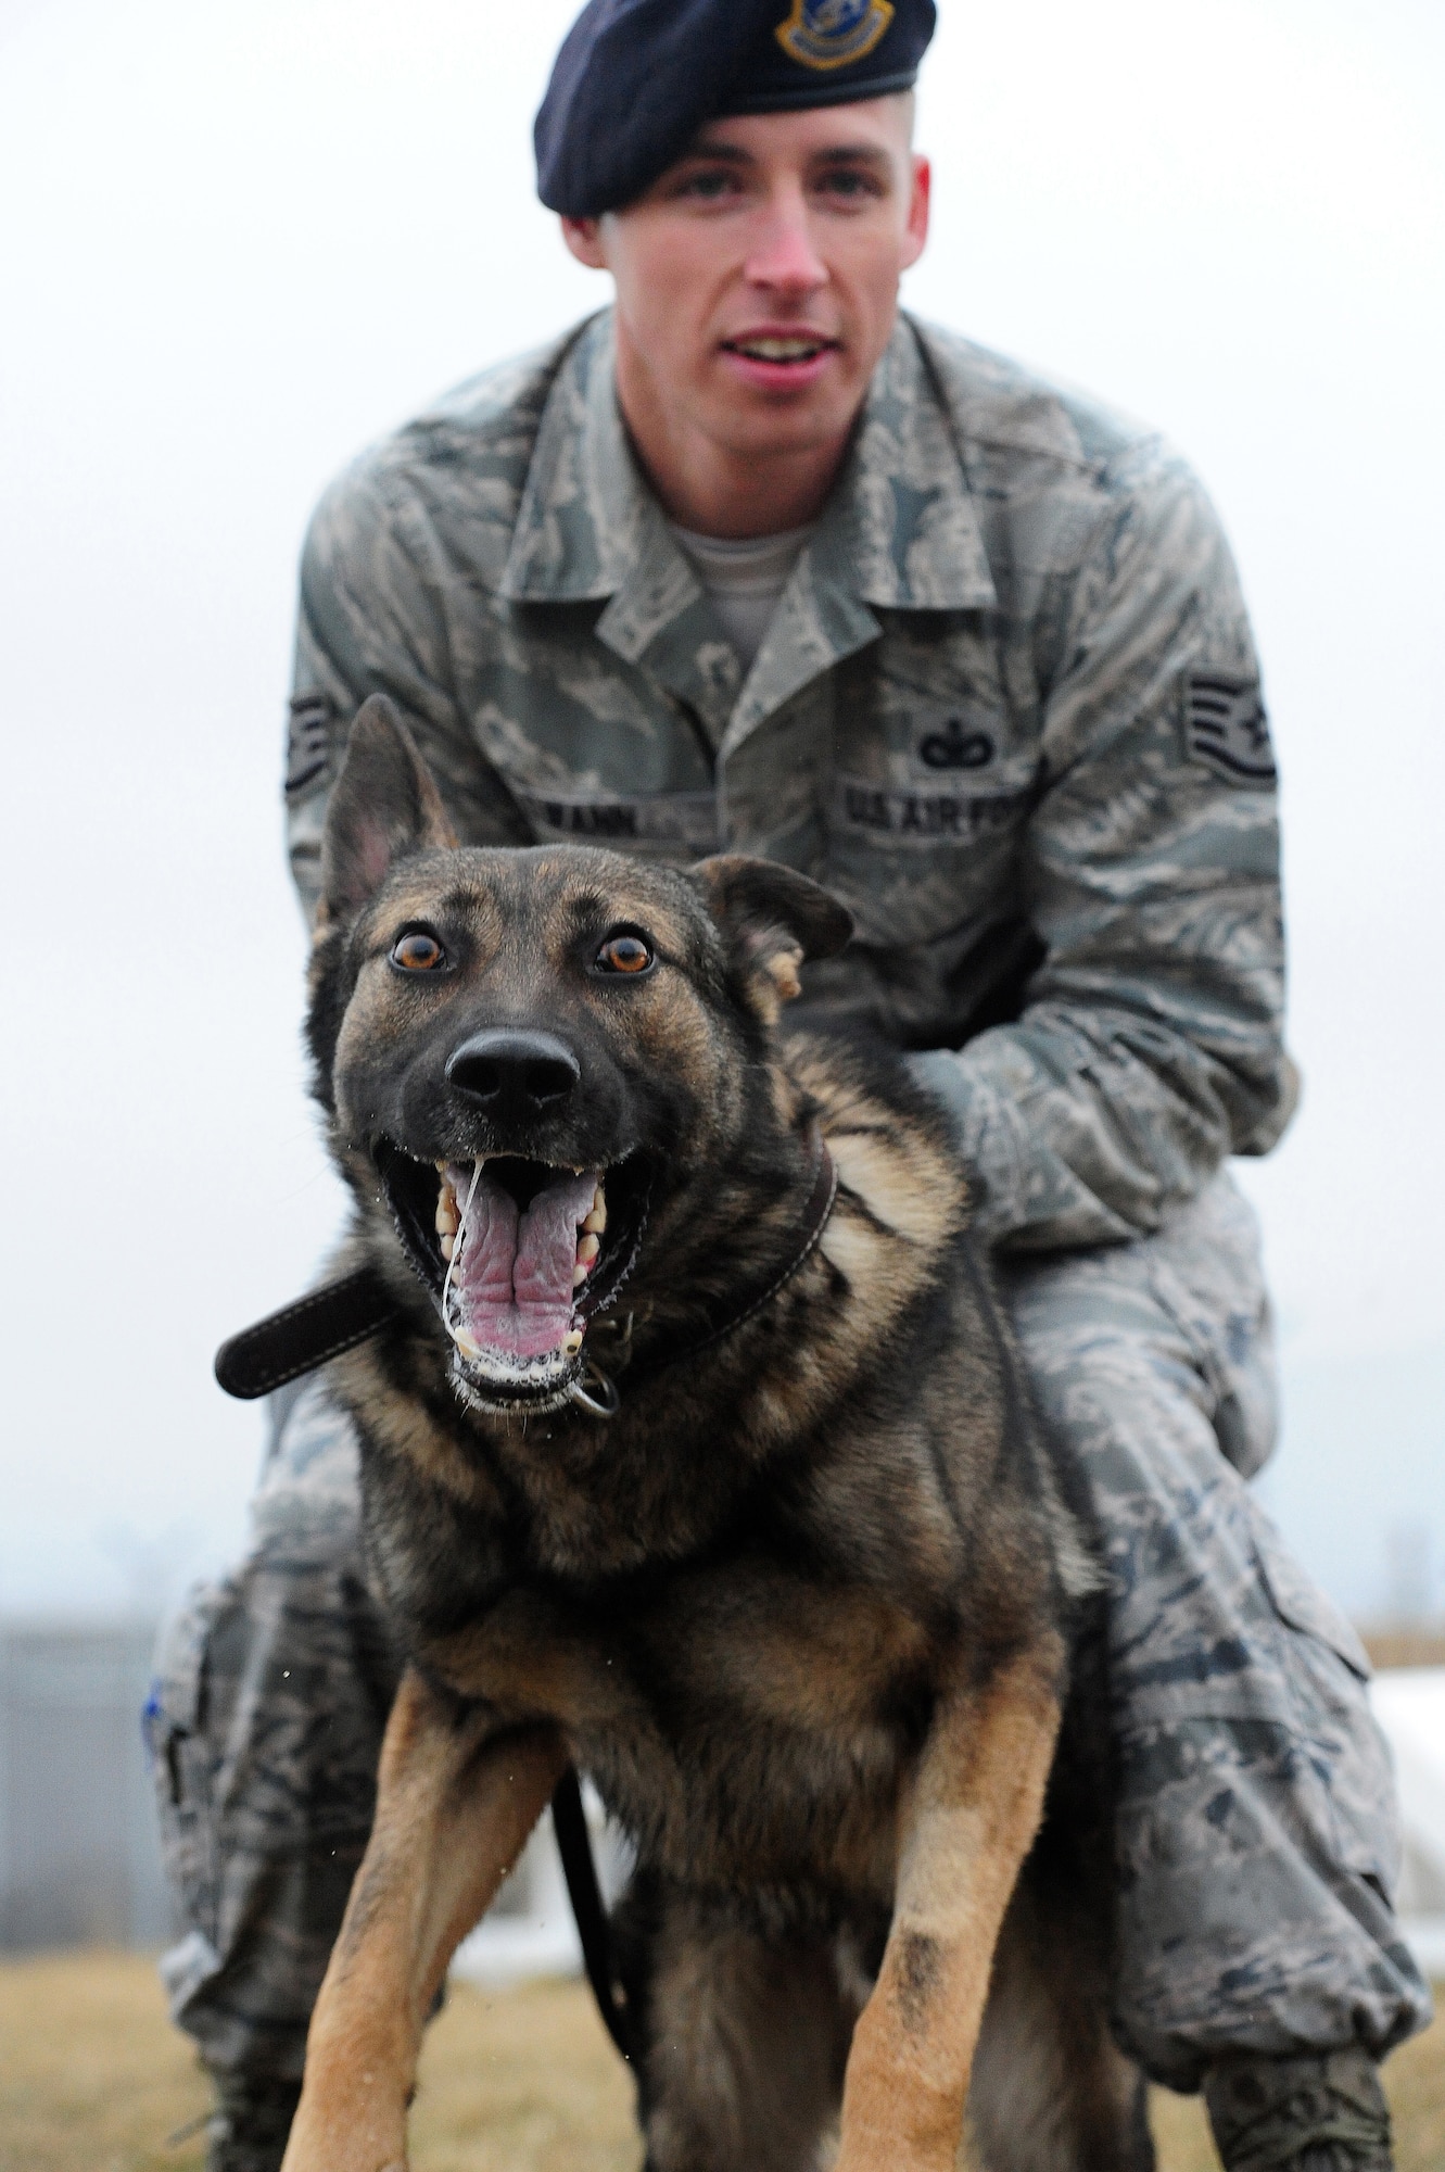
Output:
[[933,22],[933,0],[588,0],[536,115],[536,193],[621,211],[720,113],[907,91]]

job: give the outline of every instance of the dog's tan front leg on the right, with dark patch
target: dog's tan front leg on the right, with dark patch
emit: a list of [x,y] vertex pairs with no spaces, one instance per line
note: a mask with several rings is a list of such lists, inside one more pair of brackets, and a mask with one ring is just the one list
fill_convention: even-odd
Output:
[[952,2172],[994,1946],[1044,1814],[1063,1649],[939,1696],[900,1803],[894,1922],[853,2033],[835,2172]]

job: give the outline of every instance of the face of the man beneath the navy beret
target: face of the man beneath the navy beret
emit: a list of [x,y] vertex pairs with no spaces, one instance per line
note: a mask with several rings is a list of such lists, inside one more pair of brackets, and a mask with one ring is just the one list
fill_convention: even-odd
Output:
[[651,441],[842,443],[929,230],[911,98],[709,122],[627,211],[564,219],[616,282],[618,393]]

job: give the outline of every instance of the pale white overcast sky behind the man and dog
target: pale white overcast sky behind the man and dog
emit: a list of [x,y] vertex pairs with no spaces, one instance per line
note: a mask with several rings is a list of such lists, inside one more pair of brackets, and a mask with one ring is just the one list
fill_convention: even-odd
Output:
[[[532,198],[568,15],[0,0],[0,1605],[158,1601],[239,1544],[260,1420],[210,1353],[338,1214],[280,858],[295,558],[360,445],[605,300]],[[1163,426],[1241,563],[1306,1073],[1245,1173],[1308,1414],[1271,1486],[1378,1605],[1391,1531],[1445,1546],[1441,11],[942,15],[905,300]]]

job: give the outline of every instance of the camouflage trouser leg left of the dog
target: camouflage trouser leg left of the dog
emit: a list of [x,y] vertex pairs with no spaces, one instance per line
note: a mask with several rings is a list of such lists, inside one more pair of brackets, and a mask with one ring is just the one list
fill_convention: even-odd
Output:
[[219,2070],[299,2072],[395,1681],[360,1562],[356,1447],[310,1397],[267,1464],[245,1562],[167,1627],[148,1707],[187,1922],[163,1972],[176,2020]]

